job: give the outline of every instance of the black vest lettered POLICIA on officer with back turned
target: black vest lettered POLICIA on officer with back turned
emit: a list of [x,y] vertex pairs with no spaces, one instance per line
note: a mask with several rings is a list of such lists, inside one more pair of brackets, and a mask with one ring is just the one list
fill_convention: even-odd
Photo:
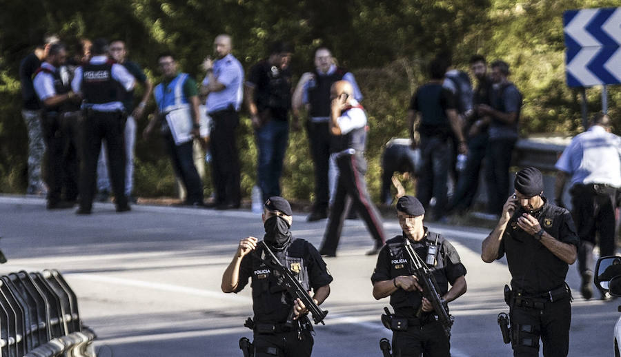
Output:
[[112,62],[95,65],[88,63],[82,68],[82,94],[89,104],[121,101],[123,91],[119,82],[112,78]]

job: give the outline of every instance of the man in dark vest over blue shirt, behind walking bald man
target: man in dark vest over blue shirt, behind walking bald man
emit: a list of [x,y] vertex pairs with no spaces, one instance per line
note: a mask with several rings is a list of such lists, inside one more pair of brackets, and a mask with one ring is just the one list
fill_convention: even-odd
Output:
[[[337,67],[332,52],[326,47],[315,50],[315,71],[304,77],[302,86],[302,103],[308,112],[306,130],[308,143],[311,145],[311,157],[315,166],[315,204],[307,221],[318,221],[328,217],[328,169],[330,162],[330,140],[328,130],[330,120],[330,88],[336,81],[345,80],[351,83],[353,97],[362,101],[356,80],[348,70]],[[294,112],[299,110],[294,104]]]

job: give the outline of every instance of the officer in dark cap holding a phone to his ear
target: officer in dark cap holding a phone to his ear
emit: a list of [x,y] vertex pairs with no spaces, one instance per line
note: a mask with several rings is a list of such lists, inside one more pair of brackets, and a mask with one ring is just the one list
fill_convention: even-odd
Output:
[[500,221],[483,241],[481,258],[491,263],[506,254],[513,356],[538,356],[540,338],[544,357],[567,356],[571,292],[565,277],[580,240],[569,211],[542,196],[539,170],[520,170],[514,186]]

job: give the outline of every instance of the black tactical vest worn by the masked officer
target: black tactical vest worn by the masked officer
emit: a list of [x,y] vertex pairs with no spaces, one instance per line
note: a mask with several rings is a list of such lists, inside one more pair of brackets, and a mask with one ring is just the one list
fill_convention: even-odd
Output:
[[[273,251],[282,265],[289,269],[304,289],[311,290],[308,278],[308,262],[306,256],[306,241],[292,238],[287,249],[281,252]],[[276,277],[271,274],[260,259],[261,249],[253,254],[253,310],[255,323],[284,323],[293,307],[293,299],[285,289],[277,285]]]

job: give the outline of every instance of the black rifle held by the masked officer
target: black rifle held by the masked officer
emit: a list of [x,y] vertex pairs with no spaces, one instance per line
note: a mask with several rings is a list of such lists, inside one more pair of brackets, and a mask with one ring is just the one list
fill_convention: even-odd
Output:
[[[326,323],[324,323],[324,318],[328,314],[328,311],[324,311],[319,308],[319,306],[317,306],[315,300],[311,298],[311,296],[308,294],[306,289],[304,289],[302,284],[299,283],[297,278],[293,276],[289,269],[287,269],[284,265],[280,263],[278,258],[274,255],[274,253],[270,250],[270,248],[266,245],[264,241],[261,241],[259,244],[263,245],[264,252],[264,254],[260,256],[260,258],[263,263],[265,263],[265,265],[267,265],[271,269],[272,274],[276,276],[278,281],[277,284],[281,287],[284,287],[284,289],[286,289],[287,292],[291,295],[293,300],[295,300],[296,298],[302,300],[302,303],[304,303],[306,309],[308,309],[308,311],[313,314],[313,321],[315,321],[315,325],[317,325],[318,323],[326,325]],[[293,309],[291,310],[287,318],[286,324],[292,324],[292,318]]]

